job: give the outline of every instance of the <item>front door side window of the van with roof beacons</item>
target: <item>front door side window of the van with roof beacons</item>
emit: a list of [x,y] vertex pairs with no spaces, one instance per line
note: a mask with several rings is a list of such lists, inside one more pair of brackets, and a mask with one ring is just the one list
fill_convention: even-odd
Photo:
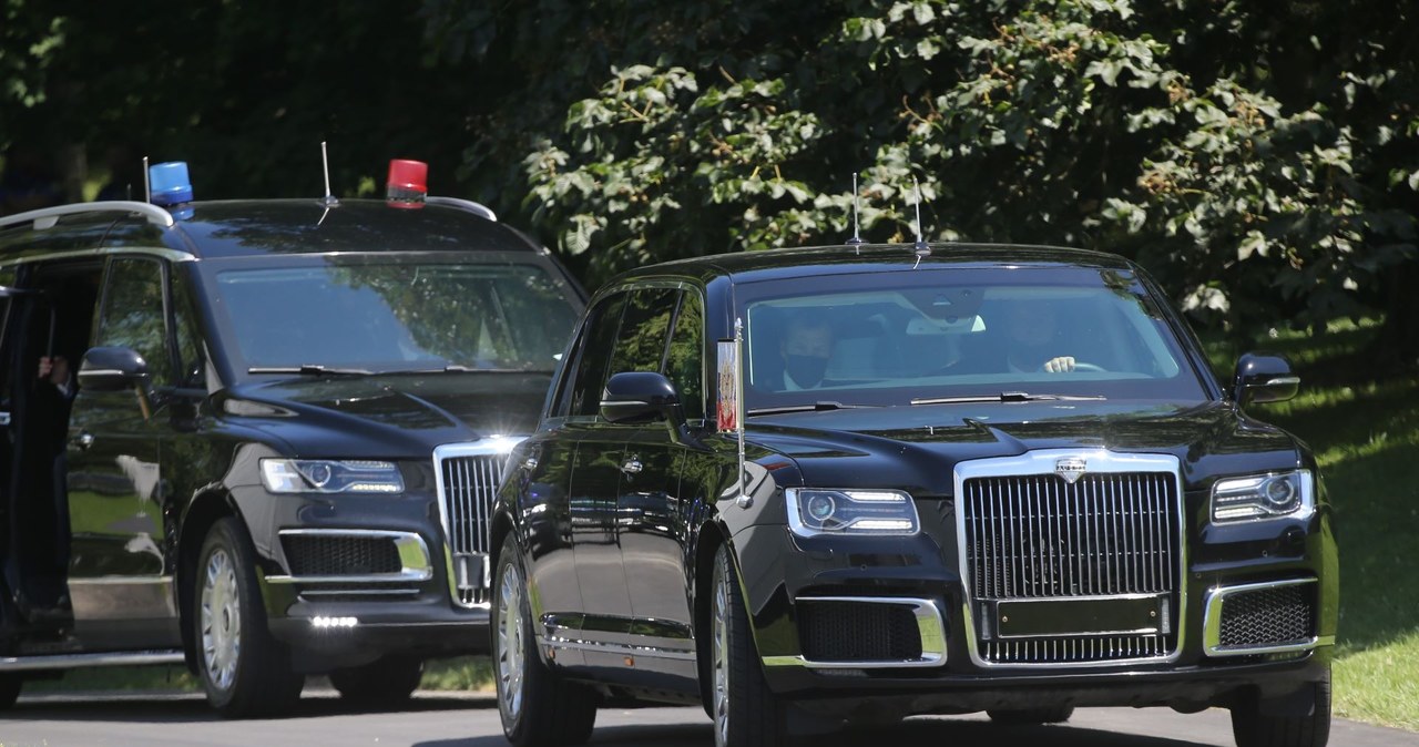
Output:
[[96,342],[136,350],[148,360],[155,386],[172,384],[160,261],[121,258],[109,262]]

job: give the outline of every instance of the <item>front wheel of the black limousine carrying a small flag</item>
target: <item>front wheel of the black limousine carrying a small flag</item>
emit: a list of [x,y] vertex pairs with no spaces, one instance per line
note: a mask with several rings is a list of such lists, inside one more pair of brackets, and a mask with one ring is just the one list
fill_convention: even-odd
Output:
[[780,744],[783,709],[763,678],[728,544],[715,553],[710,594],[710,717],[715,747]]

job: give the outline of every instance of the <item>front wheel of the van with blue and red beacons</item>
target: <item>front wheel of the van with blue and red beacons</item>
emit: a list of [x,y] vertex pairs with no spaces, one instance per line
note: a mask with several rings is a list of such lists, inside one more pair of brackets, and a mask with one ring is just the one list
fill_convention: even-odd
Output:
[[193,588],[193,645],[207,702],[228,719],[280,716],[301,697],[305,676],[267,631],[255,558],[245,530],[231,517],[207,532]]

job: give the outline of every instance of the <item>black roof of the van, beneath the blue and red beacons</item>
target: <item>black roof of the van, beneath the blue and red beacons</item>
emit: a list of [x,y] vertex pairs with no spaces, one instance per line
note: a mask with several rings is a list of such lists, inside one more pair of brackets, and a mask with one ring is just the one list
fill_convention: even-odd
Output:
[[[77,207],[77,206],[75,206]],[[448,204],[400,208],[383,200],[221,200],[180,206],[172,225],[125,213],[75,213],[48,228],[7,227],[0,259],[55,251],[166,247],[199,258],[271,254],[480,251],[545,252],[515,228]]]

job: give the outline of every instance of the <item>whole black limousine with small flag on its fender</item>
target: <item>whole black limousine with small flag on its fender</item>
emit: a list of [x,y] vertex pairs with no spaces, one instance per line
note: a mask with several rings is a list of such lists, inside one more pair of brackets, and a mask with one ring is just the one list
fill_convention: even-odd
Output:
[[[1232,710],[1324,744],[1338,573],[1315,459],[1134,264],[832,247],[633,271],[592,301],[492,519],[515,744],[599,702],[785,724]],[[610,699],[610,700],[606,700]],[[555,716],[553,716],[555,714]]]

